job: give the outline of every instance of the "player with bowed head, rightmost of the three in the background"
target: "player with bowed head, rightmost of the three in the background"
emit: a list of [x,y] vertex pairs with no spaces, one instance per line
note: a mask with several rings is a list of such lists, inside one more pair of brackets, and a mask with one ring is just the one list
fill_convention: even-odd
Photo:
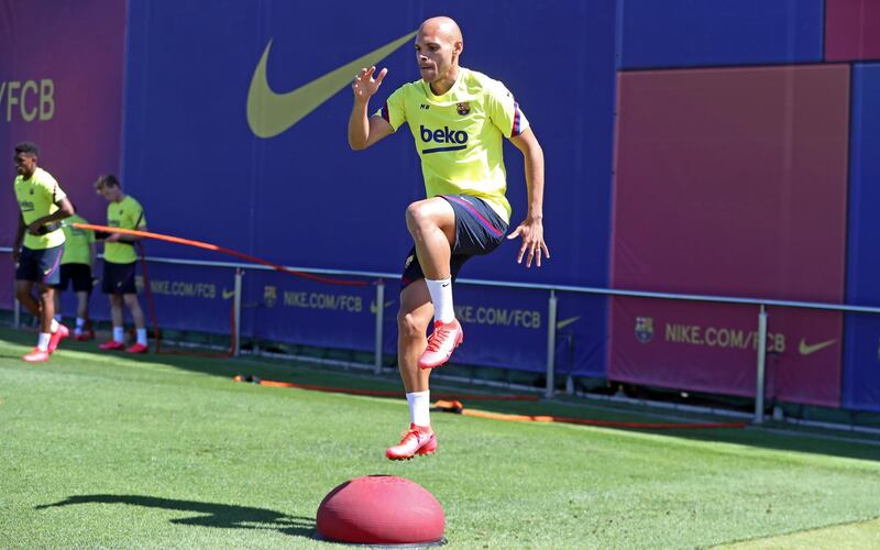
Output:
[[[107,199],[107,224],[111,228],[138,229],[146,231],[146,219],[141,204],[134,197],[125,195],[119,179],[108,174],[98,178],[95,189]],[[110,315],[113,322],[113,336],[100,345],[101,350],[122,350],[124,345],[123,311],[124,304],[134,320],[138,341],[125,349],[128,353],[146,353],[146,322],[141,304],[138,301],[138,288],[134,285],[134,273],[138,265],[138,253],[134,242],[140,238],[111,233],[103,245],[103,277],[101,290],[110,297]]]

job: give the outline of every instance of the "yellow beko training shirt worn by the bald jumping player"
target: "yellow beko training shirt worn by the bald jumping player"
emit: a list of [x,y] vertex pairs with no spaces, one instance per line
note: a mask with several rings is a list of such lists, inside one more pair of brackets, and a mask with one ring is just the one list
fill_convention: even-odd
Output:
[[480,197],[509,223],[502,138],[519,135],[529,123],[502,82],[459,67],[455,84],[442,96],[425,80],[405,84],[376,116],[395,132],[409,123],[428,197]]

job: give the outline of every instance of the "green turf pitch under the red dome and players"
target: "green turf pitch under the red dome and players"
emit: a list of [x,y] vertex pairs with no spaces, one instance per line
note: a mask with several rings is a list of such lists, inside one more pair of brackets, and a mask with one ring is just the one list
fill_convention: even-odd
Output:
[[[337,548],[311,538],[318,505],[369,474],[430,491],[446,510],[446,548],[778,548],[761,541],[792,534],[806,548],[831,526],[835,540],[880,540],[866,522],[880,517],[877,446],[433,414],[439,452],[389,462],[384,449],[408,422],[403,398],[231,377],[399,389],[393,377],[67,341],[30,366],[19,358],[33,340],[0,329],[2,548]],[[588,403],[465,405],[658,420]]]

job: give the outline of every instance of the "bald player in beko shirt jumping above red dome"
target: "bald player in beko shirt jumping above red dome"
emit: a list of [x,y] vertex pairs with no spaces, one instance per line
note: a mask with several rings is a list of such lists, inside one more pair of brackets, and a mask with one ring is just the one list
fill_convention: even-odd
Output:
[[[402,277],[397,351],[410,427],[399,444],[386,450],[392,460],[437,450],[428,378],[463,341],[452,282],[465,261],[503,242],[510,221],[503,138],[522,153],[528,188],[526,218],[507,239],[522,239],[517,262],[525,257],[527,267],[532,262],[540,266],[542,254],[550,257],[542,223],[543,153],[513,95],[502,82],[459,65],[464,41],[449,18],[425,21],[415,48],[421,79],[395,90],[367,117],[370,98],[387,69],[362,69],[352,82],[349,119],[349,145],[355,151],[408,123],[428,197],[406,210],[415,246]],[[426,339],[431,320],[433,332]]]

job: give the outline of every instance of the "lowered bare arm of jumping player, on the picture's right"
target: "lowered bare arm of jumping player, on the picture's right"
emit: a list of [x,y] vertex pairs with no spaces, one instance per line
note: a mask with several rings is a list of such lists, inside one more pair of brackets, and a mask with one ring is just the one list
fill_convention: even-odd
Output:
[[517,263],[522,263],[526,256],[526,267],[531,267],[532,260],[538,267],[541,266],[541,253],[550,260],[550,250],[543,241],[543,151],[535,138],[535,133],[527,128],[521,134],[510,138],[516,148],[522,152],[526,164],[526,187],[528,189],[528,213],[516,230],[507,239],[522,238]]

